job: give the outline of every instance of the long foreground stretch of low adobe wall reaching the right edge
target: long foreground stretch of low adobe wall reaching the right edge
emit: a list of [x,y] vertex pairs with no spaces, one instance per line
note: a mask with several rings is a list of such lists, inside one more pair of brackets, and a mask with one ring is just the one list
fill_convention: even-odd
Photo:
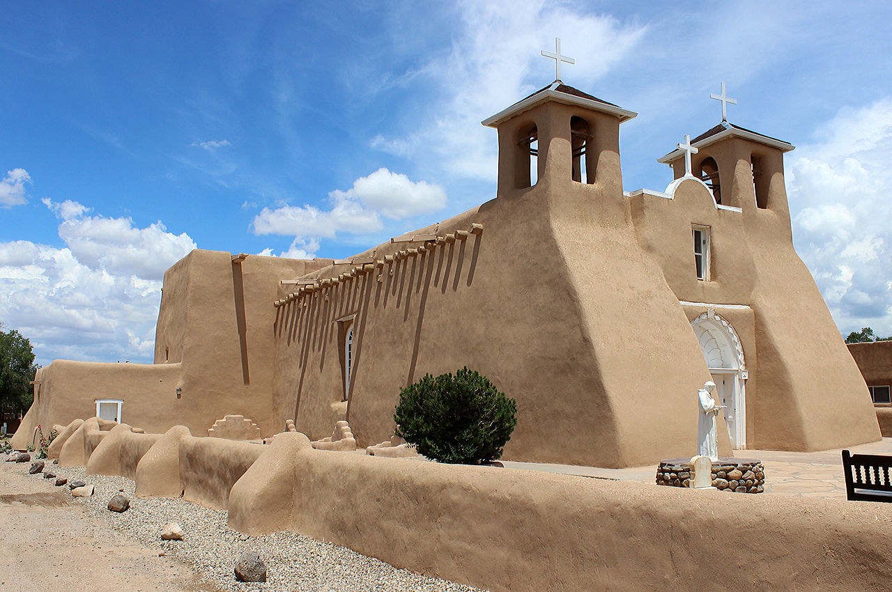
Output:
[[892,516],[876,503],[326,452],[299,433],[277,435],[235,484],[229,524],[298,530],[493,591],[880,589],[892,578]]

